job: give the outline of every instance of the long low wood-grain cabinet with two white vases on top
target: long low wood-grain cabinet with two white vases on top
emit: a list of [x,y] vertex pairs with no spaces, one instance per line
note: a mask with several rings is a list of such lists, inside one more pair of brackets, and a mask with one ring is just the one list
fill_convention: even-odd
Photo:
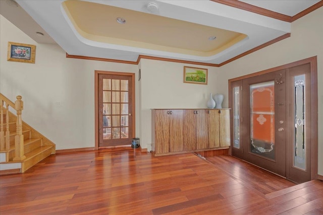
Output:
[[153,109],[155,156],[230,147],[230,109]]

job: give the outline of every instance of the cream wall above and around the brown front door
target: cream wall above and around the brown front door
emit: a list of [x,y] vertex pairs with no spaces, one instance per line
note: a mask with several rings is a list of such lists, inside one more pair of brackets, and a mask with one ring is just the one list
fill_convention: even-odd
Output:
[[[323,175],[323,8],[294,21],[291,37],[220,67],[221,80],[256,73],[317,55],[318,174]],[[218,82],[228,89],[228,82]],[[228,97],[228,90],[225,92]],[[225,101],[228,103],[228,101]]]

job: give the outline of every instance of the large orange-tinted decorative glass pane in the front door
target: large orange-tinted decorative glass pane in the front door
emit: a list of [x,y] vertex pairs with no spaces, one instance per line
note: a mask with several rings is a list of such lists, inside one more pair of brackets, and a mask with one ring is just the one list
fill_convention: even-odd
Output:
[[250,85],[250,152],[275,160],[275,82]]

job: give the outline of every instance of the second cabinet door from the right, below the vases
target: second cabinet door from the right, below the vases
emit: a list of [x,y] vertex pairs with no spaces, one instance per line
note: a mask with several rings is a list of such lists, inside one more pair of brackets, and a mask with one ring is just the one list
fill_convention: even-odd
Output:
[[208,144],[209,148],[220,147],[219,110],[208,110]]

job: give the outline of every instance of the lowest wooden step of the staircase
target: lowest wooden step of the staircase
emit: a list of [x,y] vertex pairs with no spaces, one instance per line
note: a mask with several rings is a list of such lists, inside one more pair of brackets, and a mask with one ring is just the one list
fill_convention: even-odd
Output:
[[48,157],[52,152],[53,146],[42,146],[34,149],[33,151],[26,153],[26,159],[23,163],[23,172],[34,166],[44,158]]

